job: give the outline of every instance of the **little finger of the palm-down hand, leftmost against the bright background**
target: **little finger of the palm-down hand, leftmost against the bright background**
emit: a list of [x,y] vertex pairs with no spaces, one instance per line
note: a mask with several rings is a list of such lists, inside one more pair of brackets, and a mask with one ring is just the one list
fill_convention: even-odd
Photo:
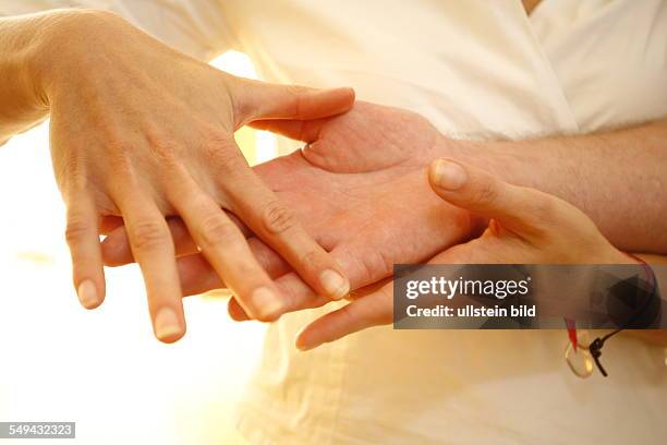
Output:
[[99,249],[98,214],[87,193],[68,200],[65,238],[72,255],[72,279],[78,301],[86,309],[105,299],[105,272]]

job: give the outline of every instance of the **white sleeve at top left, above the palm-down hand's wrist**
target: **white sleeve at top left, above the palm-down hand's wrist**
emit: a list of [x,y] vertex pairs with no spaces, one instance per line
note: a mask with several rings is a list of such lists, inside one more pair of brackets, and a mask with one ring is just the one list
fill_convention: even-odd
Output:
[[113,11],[159,40],[208,61],[235,46],[221,0],[0,0],[0,16],[57,8]]

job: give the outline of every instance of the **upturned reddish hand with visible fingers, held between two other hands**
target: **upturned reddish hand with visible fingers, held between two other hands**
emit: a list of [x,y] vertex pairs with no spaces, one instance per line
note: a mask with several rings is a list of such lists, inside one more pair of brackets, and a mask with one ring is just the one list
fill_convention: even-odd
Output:
[[[303,152],[257,166],[255,171],[305,221],[310,233],[339,262],[353,288],[392,274],[395,263],[417,263],[480,233],[483,225],[465,211],[439,200],[428,187],[427,159],[458,156],[447,140],[420,116],[367,103],[348,113],[314,121],[258,121],[254,127],[310,142]],[[186,294],[222,287],[196,243],[171,219],[179,272]],[[477,228],[477,226],[480,228]],[[250,231],[246,232],[248,236]],[[284,312],[328,300],[290,273],[290,267],[257,239],[250,244],[286,297]],[[104,242],[109,265],[132,262],[124,229]],[[230,313],[247,315],[235,300]]]

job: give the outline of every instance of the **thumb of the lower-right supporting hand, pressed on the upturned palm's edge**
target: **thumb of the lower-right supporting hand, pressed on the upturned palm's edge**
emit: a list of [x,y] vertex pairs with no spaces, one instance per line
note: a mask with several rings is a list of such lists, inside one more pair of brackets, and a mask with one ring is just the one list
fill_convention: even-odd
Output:
[[534,189],[512,185],[485,171],[450,159],[430,164],[428,181],[449,203],[495,218],[522,236],[541,236],[553,224],[558,200]]

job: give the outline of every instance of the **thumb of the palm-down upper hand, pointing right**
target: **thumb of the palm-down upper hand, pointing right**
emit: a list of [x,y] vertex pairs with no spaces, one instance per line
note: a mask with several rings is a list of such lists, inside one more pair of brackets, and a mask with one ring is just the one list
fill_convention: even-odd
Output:
[[231,87],[239,127],[257,119],[310,120],[340,115],[354,105],[352,88],[315,89],[237,79]]

